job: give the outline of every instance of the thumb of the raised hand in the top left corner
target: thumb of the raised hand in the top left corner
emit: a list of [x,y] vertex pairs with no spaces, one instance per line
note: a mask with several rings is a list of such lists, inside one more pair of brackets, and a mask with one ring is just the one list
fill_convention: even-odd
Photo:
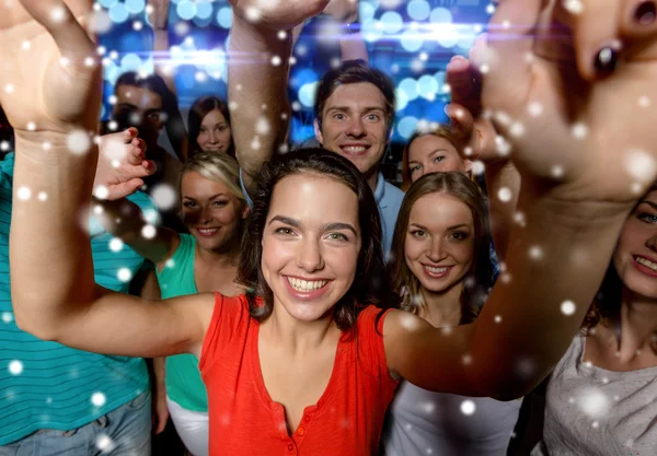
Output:
[[[95,55],[93,42],[62,0],[21,0],[21,3],[53,36],[62,56]],[[78,1],[76,5],[80,3],[85,12],[91,12],[92,1]]]

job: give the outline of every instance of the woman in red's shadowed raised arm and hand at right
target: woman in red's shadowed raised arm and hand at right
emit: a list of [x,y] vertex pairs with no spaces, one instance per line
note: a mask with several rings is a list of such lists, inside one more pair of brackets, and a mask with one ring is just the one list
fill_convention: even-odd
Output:
[[[543,3],[500,2],[488,47],[474,56],[489,70],[484,107],[522,179],[526,226],[511,231],[508,277],[473,325],[447,334],[403,314],[384,325],[391,369],[428,389],[510,399],[538,385],[576,335],[627,213],[655,179],[657,107],[641,103],[657,95],[655,28],[613,0],[583,0],[580,14]],[[543,39],[555,17],[572,40]],[[618,50],[596,47],[614,39],[625,45],[615,69]]]

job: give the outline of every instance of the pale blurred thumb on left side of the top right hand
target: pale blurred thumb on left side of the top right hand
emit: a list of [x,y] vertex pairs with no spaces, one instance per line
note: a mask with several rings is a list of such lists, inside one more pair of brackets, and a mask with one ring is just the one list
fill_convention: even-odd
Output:
[[[520,106],[529,92],[534,28],[542,0],[503,0],[491,20],[486,46],[474,49],[472,60],[484,73],[486,107]],[[507,113],[517,115],[519,113]]]

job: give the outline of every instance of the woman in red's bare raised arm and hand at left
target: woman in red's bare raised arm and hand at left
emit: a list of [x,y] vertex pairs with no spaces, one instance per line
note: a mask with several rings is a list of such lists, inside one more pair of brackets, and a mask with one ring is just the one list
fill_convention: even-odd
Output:
[[[91,7],[88,0],[22,0],[0,19],[0,85],[15,87],[0,91],[0,104],[16,137],[10,235],[16,324],[42,339],[100,353],[198,353],[212,296],[159,304],[94,284],[84,224],[97,160],[92,138],[101,65],[76,20]],[[32,39],[30,58],[21,47],[25,39]]]

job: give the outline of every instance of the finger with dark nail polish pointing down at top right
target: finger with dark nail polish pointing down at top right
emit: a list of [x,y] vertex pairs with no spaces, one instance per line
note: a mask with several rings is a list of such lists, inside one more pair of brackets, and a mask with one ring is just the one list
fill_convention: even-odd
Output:
[[619,62],[621,2],[577,0],[557,2],[555,14],[565,17],[573,32],[579,75],[592,81],[611,74]]

